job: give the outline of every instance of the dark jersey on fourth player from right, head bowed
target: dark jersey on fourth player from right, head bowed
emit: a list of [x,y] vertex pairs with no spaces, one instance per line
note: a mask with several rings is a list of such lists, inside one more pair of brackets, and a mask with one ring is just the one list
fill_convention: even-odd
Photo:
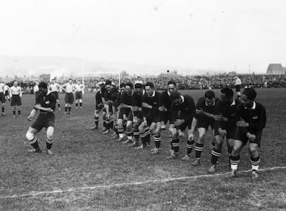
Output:
[[184,102],[176,105],[171,104],[172,122],[175,122],[177,118],[181,118],[184,122],[191,122],[193,115],[196,111],[196,105],[193,98],[190,95],[183,95]]

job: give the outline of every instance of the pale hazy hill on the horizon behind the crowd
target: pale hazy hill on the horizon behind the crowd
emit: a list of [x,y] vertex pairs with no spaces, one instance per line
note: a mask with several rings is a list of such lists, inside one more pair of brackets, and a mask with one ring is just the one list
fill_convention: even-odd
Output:
[[[55,76],[79,77],[82,70],[89,76],[100,76],[106,73],[126,71],[130,75],[159,75],[167,70],[177,71],[183,75],[206,74],[212,71],[191,70],[186,67],[155,66],[148,64],[128,64],[123,62],[88,61],[78,57],[49,57],[49,56],[0,56],[0,77],[38,77],[41,74]],[[88,74],[89,73],[89,74]]]

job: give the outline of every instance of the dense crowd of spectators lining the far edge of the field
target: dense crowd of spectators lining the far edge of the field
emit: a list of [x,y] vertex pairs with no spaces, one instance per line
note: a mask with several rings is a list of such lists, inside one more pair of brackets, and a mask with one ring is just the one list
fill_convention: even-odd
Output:
[[[169,80],[174,80],[178,84],[178,89],[221,89],[224,86],[234,87],[235,75],[172,75],[171,77],[142,77],[143,82],[153,82],[158,90],[166,89]],[[242,87],[251,86],[255,88],[286,87],[286,75],[238,75],[242,82]],[[104,80],[110,80],[105,78]],[[95,91],[101,81],[101,77],[93,77],[84,80],[87,92]],[[118,79],[111,79],[118,86]],[[137,77],[124,77],[121,82],[135,82]],[[65,82],[58,82],[64,84]],[[12,86],[13,82],[6,82]],[[35,81],[20,80],[23,93],[33,93]]]

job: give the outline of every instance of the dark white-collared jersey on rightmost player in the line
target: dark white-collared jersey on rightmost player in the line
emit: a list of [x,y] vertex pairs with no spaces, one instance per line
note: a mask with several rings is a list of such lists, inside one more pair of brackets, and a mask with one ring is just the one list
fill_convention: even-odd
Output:
[[254,134],[258,131],[262,131],[266,124],[265,107],[259,102],[254,102],[254,106],[251,109],[247,109],[243,104],[238,105],[237,120],[245,120],[249,123],[249,127],[239,127],[243,134]]

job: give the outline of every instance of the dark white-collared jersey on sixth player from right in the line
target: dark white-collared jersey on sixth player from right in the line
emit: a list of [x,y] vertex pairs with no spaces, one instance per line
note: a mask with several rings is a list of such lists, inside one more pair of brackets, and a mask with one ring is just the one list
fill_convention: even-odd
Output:
[[152,106],[152,109],[147,109],[142,107],[142,114],[146,118],[154,118],[155,116],[159,116],[159,98],[160,93],[154,91],[153,95],[148,96],[147,93],[144,93],[142,96],[142,102],[146,102],[147,104]]

